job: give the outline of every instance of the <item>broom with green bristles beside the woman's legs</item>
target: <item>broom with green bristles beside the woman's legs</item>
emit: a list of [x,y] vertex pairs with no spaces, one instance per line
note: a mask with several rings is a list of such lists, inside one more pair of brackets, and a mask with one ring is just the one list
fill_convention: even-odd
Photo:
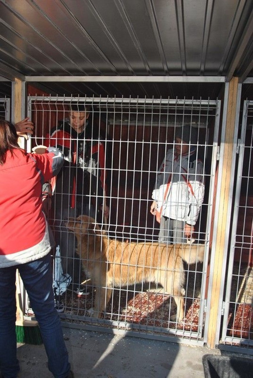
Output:
[[16,273],[16,336],[17,342],[22,344],[41,345],[43,344],[37,320],[24,319],[22,296],[20,289],[19,271]]

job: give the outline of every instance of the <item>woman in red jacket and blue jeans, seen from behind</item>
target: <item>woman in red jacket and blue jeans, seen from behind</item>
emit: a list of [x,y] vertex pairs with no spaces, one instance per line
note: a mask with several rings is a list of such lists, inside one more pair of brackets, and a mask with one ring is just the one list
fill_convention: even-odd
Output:
[[48,369],[56,378],[73,377],[52,290],[51,245],[42,212],[42,185],[61,169],[55,148],[26,153],[14,125],[0,120],[0,371],[15,378],[17,360],[16,270],[40,325]]

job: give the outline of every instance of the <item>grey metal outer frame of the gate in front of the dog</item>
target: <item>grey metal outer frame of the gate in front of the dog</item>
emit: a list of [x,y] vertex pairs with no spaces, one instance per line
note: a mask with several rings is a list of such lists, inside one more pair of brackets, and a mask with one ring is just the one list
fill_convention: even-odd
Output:
[[[170,104],[170,105],[182,105],[182,104],[188,104],[191,106],[196,106],[200,107],[200,105],[205,105],[205,106],[215,106],[215,122],[214,122],[214,139],[213,139],[213,146],[212,146],[212,154],[211,154],[211,170],[210,170],[210,188],[209,188],[209,195],[208,195],[208,211],[207,211],[207,227],[206,227],[206,237],[209,239],[210,237],[210,229],[211,229],[211,216],[212,216],[212,206],[210,206],[210,203],[213,203],[213,196],[214,196],[214,177],[216,174],[216,161],[217,161],[217,156],[218,156],[218,133],[219,133],[219,123],[220,123],[220,114],[221,114],[221,101],[216,100],[216,101],[210,101],[210,100],[180,100],[180,99],[132,99],[132,98],[87,98],[87,97],[58,97],[58,96],[29,96],[28,97],[28,116],[31,119],[32,115],[32,109],[31,109],[31,104],[32,101],[37,100],[37,101],[49,101],[52,103],[57,103],[57,102],[69,102],[69,101],[83,101],[86,104],[116,104],[116,105],[138,105],[142,104],[146,105],[149,104],[150,106],[152,105],[157,105],[157,104]],[[27,145],[26,145],[27,151],[31,151],[31,138],[28,139]],[[206,240],[207,245],[209,240]],[[133,325],[127,324],[125,322],[114,322],[114,321],[99,321],[98,323],[101,323],[100,325],[93,325],[93,321],[91,318],[85,317],[85,319],[82,316],[62,316],[62,318],[72,321],[76,321],[76,324],[74,324],[75,327],[78,328],[84,328],[84,329],[91,329],[91,330],[100,330],[103,332],[108,332],[108,329],[104,329],[103,324],[108,323],[111,326],[113,326],[113,332],[114,333],[127,333],[128,335],[133,335],[133,336],[139,336],[139,337],[145,337],[145,338],[151,338],[151,339],[163,339],[166,341],[173,341],[173,342],[187,342],[189,344],[193,345],[204,345],[204,343],[207,341],[205,339],[204,335],[204,314],[208,310],[207,309],[207,301],[205,299],[205,284],[206,284],[206,279],[207,279],[207,265],[208,265],[208,248],[207,248],[207,253],[205,254],[205,261],[203,264],[203,272],[202,272],[202,284],[201,284],[201,297],[200,297],[200,310],[199,310],[199,326],[198,326],[198,331],[197,332],[188,332],[186,330],[180,331],[180,330],[170,330],[168,332],[167,330],[167,335],[158,335],[159,333],[159,328],[158,332],[154,332],[153,334],[147,334],[147,333],[141,333],[140,329],[143,331],[147,332],[148,331],[148,326],[141,326],[137,325],[137,328],[135,329]],[[212,272],[212,267],[210,267],[210,274],[213,274]],[[86,321],[87,324],[82,325],[80,322]],[[89,324],[88,324],[89,323]],[[66,322],[66,324],[68,324]],[[71,324],[73,326],[73,324]],[[149,331],[154,331],[154,327],[150,327]],[[175,336],[177,336],[175,338]]]

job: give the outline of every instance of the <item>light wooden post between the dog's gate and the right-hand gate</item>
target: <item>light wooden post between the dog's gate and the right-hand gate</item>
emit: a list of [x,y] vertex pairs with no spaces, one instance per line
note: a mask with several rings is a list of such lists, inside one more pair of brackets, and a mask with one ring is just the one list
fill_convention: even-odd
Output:
[[[210,305],[210,317],[208,323],[207,345],[210,348],[214,348],[216,345],[216,332],[217,327],[220,326],[221,314],[219,314],[219,307],[221,300],[221,288],[223,287],[224,277],[222,276],[222,268],[224,264],[224,258],[227,256],[226,248],[226,227],[229,205],[229,191],[231,170],[233,161],[233,142],[234,142],[234,129],[236,119],[236,100],[238,91],[238,77],[233,77],[229,83],[228,90],[228,107],[227,107],[227,121],[225,129],[225,138],[221,141],[224,143],[224,155],[223,163],[219,169],[222,170],[221,176],[221,192],[219,211],[218,211],[218,223],[217,223],[217,237],[216,242],[212,245],[214,250],[214,266],[213,266],[213,282],[211,287],[211,305]],[[222,149],[221,149],[222,153]],[[226,260],[225,260],[226,261]]]

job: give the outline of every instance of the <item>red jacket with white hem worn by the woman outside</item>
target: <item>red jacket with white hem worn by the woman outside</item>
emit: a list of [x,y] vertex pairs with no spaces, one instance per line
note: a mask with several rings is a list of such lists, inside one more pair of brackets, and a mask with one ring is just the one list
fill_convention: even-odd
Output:
[[64,156],[14,149],[0,165],[0,268],[37,260],[51,247],[42,212],[42,185],[58,174]]

